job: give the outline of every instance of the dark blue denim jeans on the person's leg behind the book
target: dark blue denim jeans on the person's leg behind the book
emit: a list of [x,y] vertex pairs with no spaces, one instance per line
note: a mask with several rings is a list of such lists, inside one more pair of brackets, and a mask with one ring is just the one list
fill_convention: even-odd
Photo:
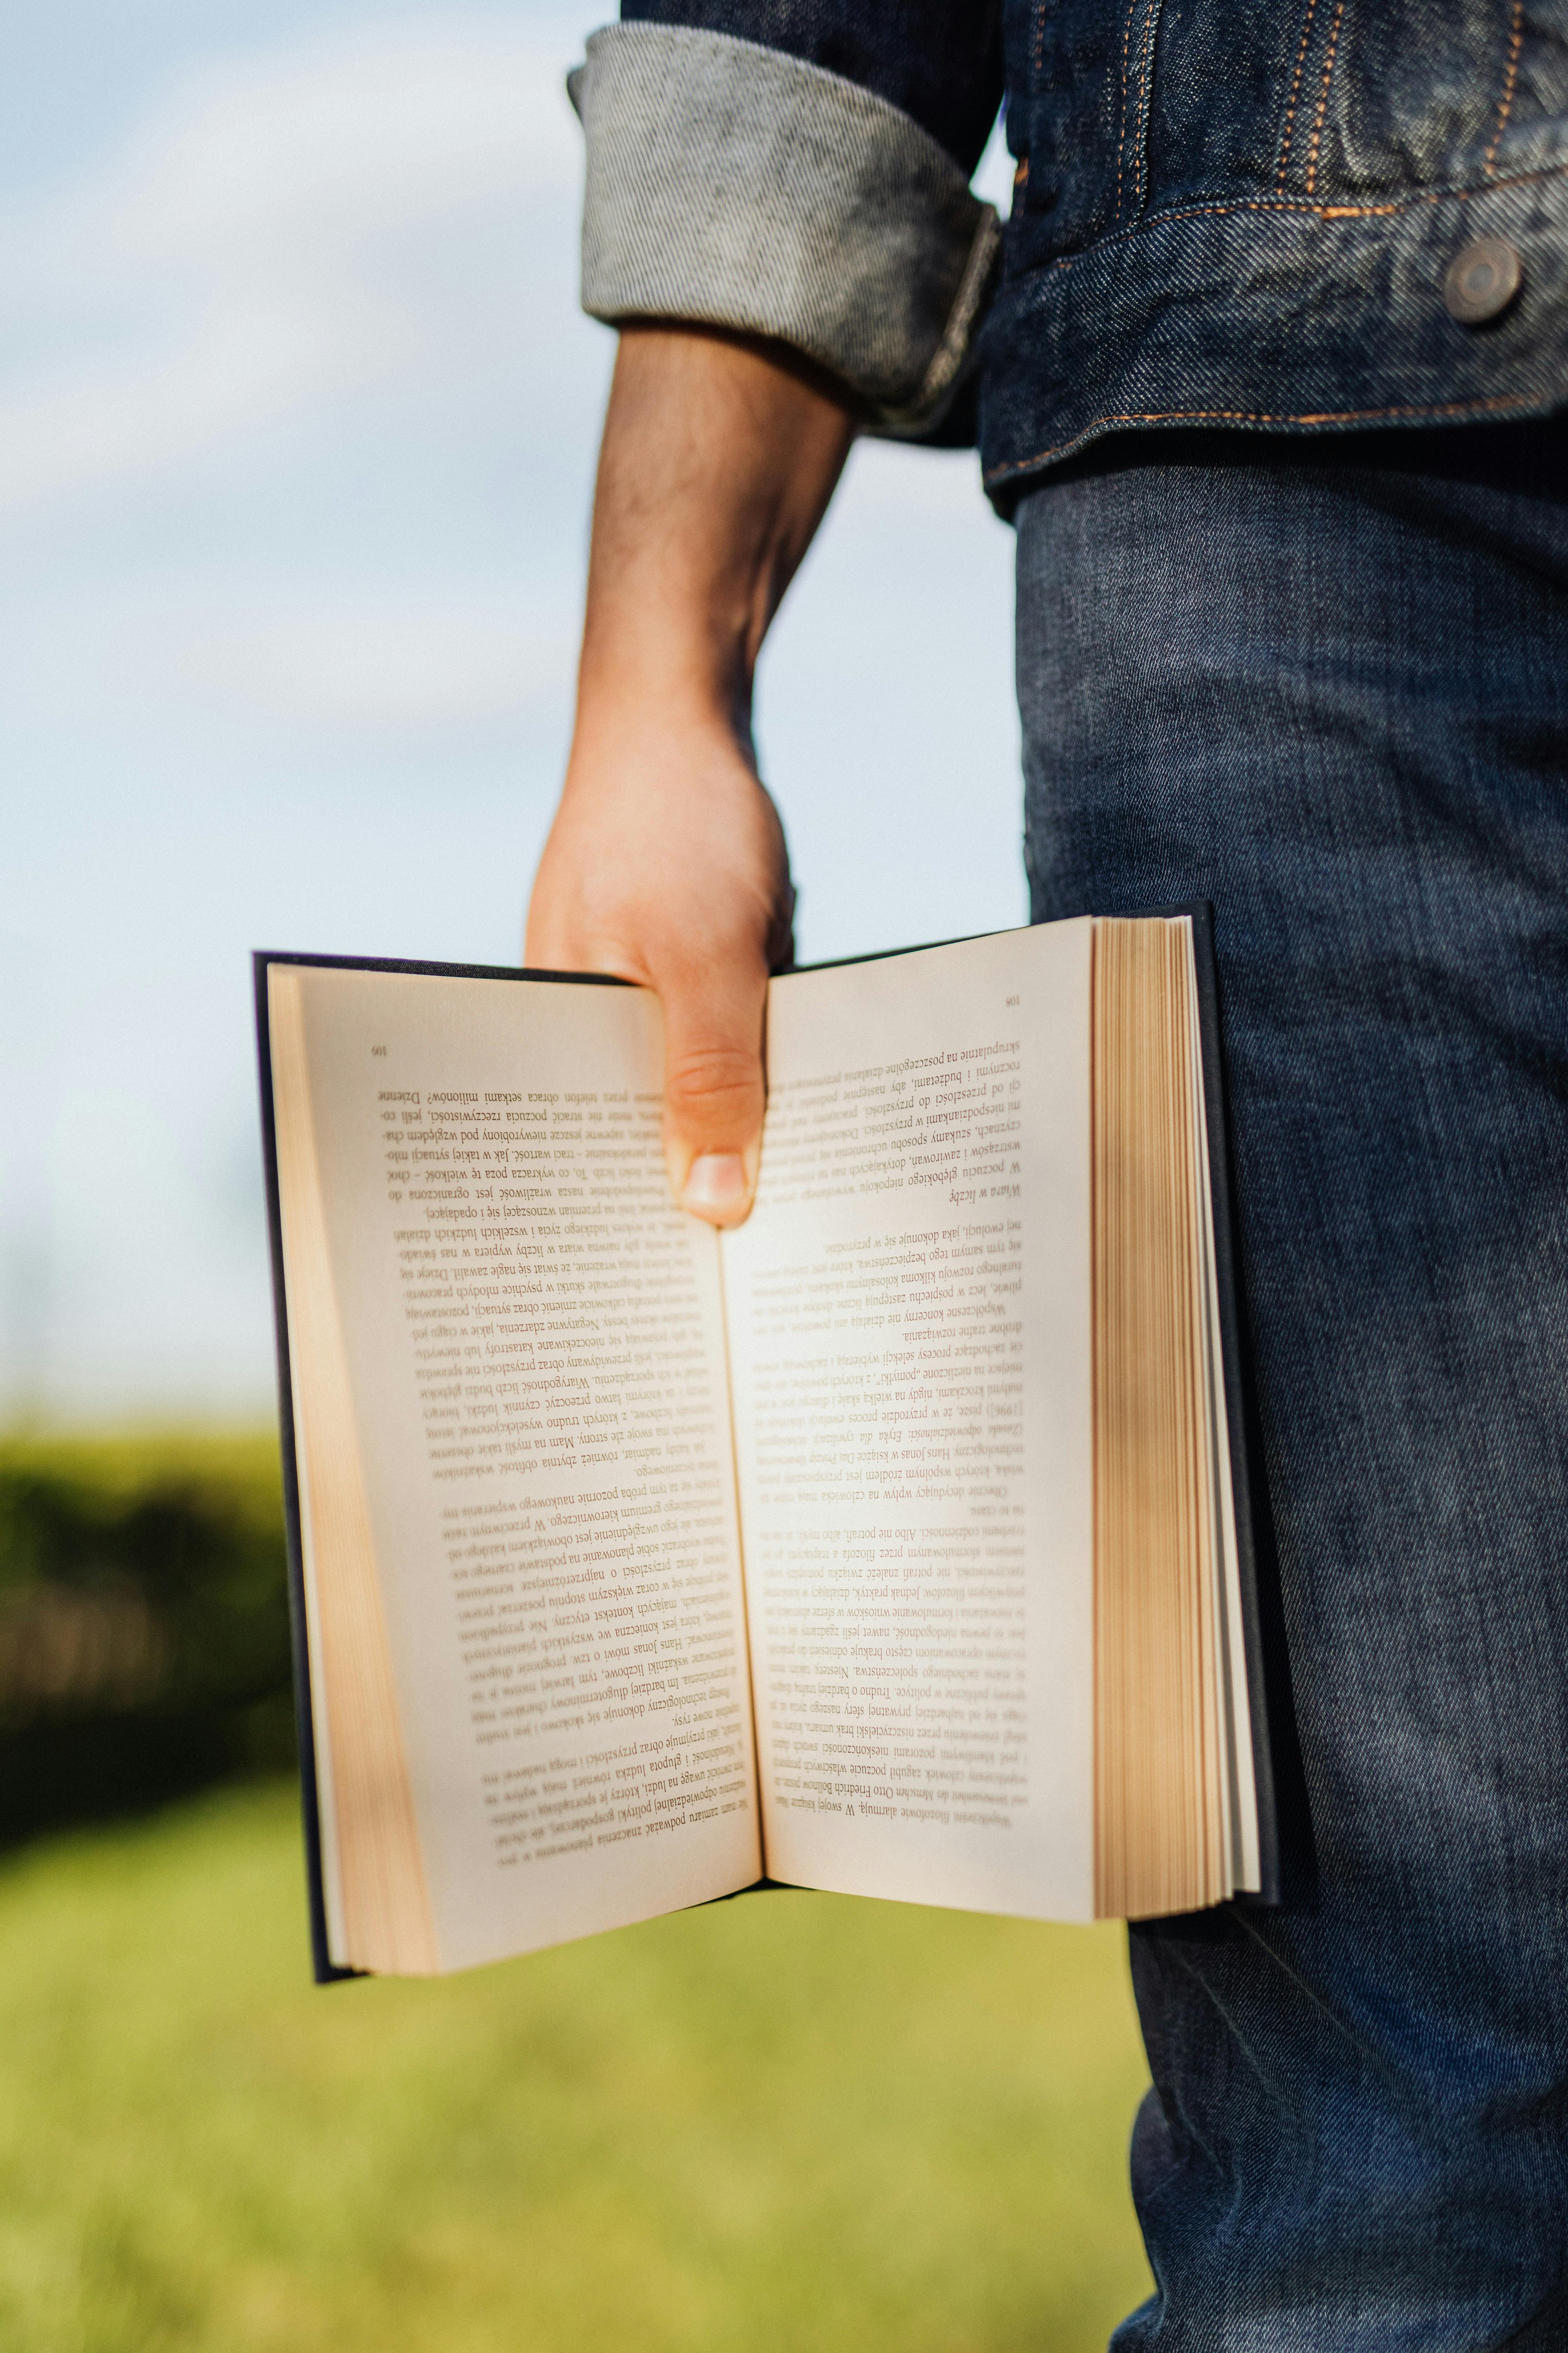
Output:
[[1568,431],[1018,511],[1034,918],[1211,899],[1293,1722],[1135,1927],[1117,2353],[1568,2346]]

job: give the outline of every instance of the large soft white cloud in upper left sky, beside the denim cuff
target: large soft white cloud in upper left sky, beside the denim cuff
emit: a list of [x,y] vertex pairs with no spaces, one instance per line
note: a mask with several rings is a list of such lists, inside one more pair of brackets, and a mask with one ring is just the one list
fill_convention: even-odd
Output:
[[[433,320],[386,252],[454,212],[559,214],[562,54],[503,19],[205,68],[89,179],[0,219],[0,506],[179,464],[397,374]],[[129,322],[129,325],[127,325]]]

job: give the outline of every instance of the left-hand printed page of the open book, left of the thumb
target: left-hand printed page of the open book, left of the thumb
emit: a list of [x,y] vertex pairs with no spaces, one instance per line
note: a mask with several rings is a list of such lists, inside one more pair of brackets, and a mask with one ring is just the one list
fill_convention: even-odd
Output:
[[752,1882],[719,1257],[665,1186],[656,1000],[287,969],[440,1965]]

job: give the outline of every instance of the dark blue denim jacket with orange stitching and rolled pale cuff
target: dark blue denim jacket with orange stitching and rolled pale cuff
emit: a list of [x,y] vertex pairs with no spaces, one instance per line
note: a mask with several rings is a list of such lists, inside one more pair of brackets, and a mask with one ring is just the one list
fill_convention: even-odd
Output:
[[628,0],[571,94],[588,311],[778,336],[1001,506],[1114,431],[1568,398],[1568,0]]

